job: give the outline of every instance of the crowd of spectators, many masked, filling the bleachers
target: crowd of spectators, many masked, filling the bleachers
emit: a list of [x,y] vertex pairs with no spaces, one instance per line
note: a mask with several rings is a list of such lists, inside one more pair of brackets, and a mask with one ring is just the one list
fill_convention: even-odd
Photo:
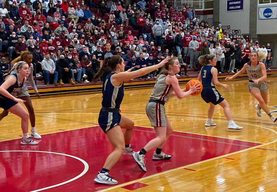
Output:
[[[3,1],[1,1],[3,2]],[[200,21],[193,8],[180,10],[173,1],[120,0],[7,0],[0,8],[0,52],[9,60],[28,50],[33,54],[34,75],[45,84],[89,82],[105,57],[121,54],[126,70],[159,63],[177,56],[184,69],[197,70],[198,57],[214,54],[219,73],[233,73],[249,61],[251,51],[268,54],[270,44],[259,45],[230,26],[222,29]],[[3,49],[2,49],[3,47]],[[0,76],[9,65],[1,58]],[[155,78],[156,71],[141,78]]]

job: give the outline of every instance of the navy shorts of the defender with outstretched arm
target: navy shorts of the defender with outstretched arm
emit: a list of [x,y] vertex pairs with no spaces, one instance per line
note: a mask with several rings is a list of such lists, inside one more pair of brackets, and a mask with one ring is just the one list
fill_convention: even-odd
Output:
[[98,117],[98,124],[101,129],[106,133],[108,130],[116,125],[119,125],[121,120],[121,114],[119,112],[107,112],[100,110]]

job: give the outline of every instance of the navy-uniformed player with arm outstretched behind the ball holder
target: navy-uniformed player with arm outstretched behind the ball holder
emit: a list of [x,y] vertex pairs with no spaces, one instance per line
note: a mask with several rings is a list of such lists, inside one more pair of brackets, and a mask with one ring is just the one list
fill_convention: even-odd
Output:
[[[130,140],[134,123],[119,113],[120,104],[124,96],[123,81],[146,75],[162,67],[168,60],[169,58],[166,58],[157,65],[130,72],[133,69],[131,68],[124,72],[124,60],[120,55],[104,59],[102,68],[93,78],[94,81],[98,81],[103,75],[103,100],[98,123],[115,149],[107,157],[103,168],[94,179],[95,182],[110,185],[117,184],[117,180],[108,175],[110,169],[119,160],[123,152],[126,154],[133,153]],[[126,129],[126,131],[123,133],[121,128]]]

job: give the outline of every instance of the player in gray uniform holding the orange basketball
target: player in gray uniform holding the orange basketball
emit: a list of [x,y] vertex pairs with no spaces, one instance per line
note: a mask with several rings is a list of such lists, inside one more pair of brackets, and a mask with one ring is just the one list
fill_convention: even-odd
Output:
[[179,73],[180,67],[177,57],[169,59],[169,62],[162,68],[149,102],[146,105],[146,114],[151,122],[151,126],[155,128],[156,138],[149,141],[139,152],[132,154],[134,160],[143,171],[146,171],[144,156],[146,152],[154,147],[157,147],[157,149],[152,159],[166,160],[171,158],[170,155],[166,155],[162,152],[162,147],[173,131],[165,115],[164,104],[168,102],[169,97],[177,96],[179,99],[183,99],[200,89],[198,84],[192,86],[190,90],[181,89],[179,87],[178,79],[174,74]]

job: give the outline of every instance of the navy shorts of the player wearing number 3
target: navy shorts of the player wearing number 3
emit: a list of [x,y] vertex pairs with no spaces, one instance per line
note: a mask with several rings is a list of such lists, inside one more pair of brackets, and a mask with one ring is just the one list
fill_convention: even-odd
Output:
[[214,105],[219,104],[224,100],[224,97],[216,90],[216,88],[203,88],[201,97],[206,103],[212,103]]

